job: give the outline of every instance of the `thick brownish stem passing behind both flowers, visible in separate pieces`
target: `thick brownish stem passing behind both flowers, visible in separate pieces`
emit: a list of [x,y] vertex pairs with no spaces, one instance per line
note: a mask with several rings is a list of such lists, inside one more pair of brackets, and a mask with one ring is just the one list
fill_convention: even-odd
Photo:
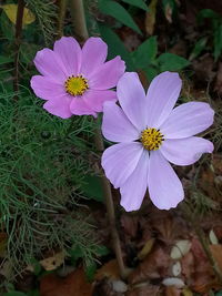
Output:
[[[83,0],[71,0],[72,4],[72,18],[74,22],[74,32],[75,34],[82,40],[87,40],[89,38],[87,23],[85,23],[85,17],[84,17],[84,7],[83,7]],[[104,150],[103,140],[100,130],[95,130],[95,147],[99,152],[102,152]],[[118,234],[117,225],[115,225],[115,214],[114,214],[114,204],[112,200],[112,193],[111,193],[111,186],[108,178],[103,175],[102,176],[102,187],[104,192],[105,197],[105,205],[107,205],[107,212],[108,212],[108,218],[110,223],[110,231],[112,235],[112,243],[113,248],[115,253],[115,257],[118,261],[120,275],[122,278],[127,276],[125,274],[125,267],[122,258],[122,251],[120,245],[120,237]]]

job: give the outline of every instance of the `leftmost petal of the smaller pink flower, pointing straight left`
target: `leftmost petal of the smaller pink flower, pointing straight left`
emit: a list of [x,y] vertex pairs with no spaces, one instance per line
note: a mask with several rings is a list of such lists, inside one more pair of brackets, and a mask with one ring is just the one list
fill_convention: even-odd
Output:
[[31,88],[36,95],[43,100],[50,100],[65,94],[64,86],[61,83],[59,84],[54,80],[41,75],[31,78]]

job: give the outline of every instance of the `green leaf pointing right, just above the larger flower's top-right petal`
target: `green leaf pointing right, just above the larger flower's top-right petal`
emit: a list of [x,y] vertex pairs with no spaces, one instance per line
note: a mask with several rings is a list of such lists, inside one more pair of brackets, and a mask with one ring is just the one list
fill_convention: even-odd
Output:
[[188,60],[173,53],[162,53],[158,60],[160,71],[179,71],[190,64]]

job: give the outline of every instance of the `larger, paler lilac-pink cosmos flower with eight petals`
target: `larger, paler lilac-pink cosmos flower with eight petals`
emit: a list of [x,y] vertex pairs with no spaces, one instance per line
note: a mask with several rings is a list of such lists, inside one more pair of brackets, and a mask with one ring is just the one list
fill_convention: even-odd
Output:
[[138,74],[125,73],[117,86],[121,108],[104,103],[103,135],[120,143],[104,151],[102,166],[120,187],[127,211],[140,208],[147,188],[157,207],[175,207],[184,192],[169,162],[190,165],[213,151],[210,141],[193,135],[213,123],[214,112],[201,102],[173,109],[181,84],[178,73],[164,72],[153,79],[145,95]]

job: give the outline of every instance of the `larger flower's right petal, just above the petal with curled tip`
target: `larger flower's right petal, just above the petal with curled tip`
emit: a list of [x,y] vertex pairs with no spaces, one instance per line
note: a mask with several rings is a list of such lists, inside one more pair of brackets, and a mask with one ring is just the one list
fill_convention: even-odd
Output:
[[190,102],[176,106],[160,126],[165,139],[189,137],[213,123],[214,111],[206,103]]

